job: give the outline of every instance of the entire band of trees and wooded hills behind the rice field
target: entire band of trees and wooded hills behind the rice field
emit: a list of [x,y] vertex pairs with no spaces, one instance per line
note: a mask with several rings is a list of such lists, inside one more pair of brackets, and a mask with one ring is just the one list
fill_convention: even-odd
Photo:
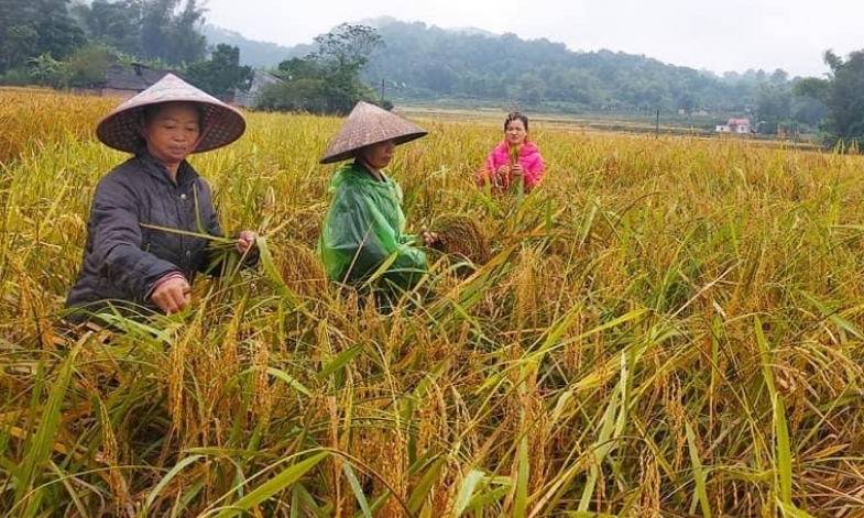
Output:
[[[216,95],[249,88],[242,44],[210,45],[197,0],[0,0],[0,82],[88,86],[112,63],[179,73]],[[357,100],[508,104],[571,113],[751,117],[766,134],[819,132],[827,145],[864,140],[864,51],[824,55],[825,78],[781,69],[715,75],[610,51],[572,52],[446,31],[422,22],[343,23],[269,68],[282,82],[259,92],[269,110],[346,113]],[[379,90],[379,85],[381,89]]]

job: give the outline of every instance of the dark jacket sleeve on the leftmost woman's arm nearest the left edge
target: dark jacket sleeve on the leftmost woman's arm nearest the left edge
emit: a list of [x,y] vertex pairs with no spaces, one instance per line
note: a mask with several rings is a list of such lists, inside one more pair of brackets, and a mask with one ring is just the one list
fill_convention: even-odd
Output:
[[[90,209],[92,260],[102,265],[111,284],[145,302],[157,282],[179,269],[141,247],[139,199],[121,177],[108,176],[100,181]],[[185,278],[185,277],[184,277]]]

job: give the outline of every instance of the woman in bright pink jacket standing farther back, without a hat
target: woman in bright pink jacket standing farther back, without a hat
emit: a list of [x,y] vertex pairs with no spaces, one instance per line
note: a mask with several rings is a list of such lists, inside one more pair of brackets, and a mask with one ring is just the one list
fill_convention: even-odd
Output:
[[489,153],[475,179],[477,185],[492,184],[492,190],[501,192],[521,176],[527,192],[540,181],[544,169],[540,150],[528,141],[528,118],[514,111],[504,120],[504,140]]

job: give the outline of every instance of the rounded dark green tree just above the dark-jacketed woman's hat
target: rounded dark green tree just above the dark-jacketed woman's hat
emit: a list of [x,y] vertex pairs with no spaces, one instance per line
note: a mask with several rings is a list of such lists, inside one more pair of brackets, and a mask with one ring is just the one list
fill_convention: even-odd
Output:
[[249,90],[252,68],[240,65],[240,48],[219,44],[210,59],[189,65],[184,76],[211,96],[230,100],[236,91]]

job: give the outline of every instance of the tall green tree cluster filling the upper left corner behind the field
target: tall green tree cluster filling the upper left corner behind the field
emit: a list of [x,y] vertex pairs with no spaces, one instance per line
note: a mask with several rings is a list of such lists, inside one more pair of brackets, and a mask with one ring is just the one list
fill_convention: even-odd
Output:
[[209,47],[196,0],[0,0],[0,81],[89,87],[112,64],[141,63],[181,74],[228,97],[252,70],[238,47]]

